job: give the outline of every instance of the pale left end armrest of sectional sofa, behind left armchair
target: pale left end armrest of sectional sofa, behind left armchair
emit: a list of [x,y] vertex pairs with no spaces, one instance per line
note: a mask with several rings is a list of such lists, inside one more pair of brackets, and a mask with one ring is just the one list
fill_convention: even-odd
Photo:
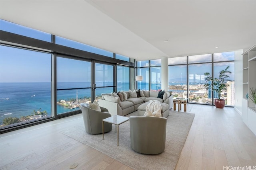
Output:
[[122,115],[122,109],[118,103],[99,99],[99,105],[108,109],[108,112],[113,115]]

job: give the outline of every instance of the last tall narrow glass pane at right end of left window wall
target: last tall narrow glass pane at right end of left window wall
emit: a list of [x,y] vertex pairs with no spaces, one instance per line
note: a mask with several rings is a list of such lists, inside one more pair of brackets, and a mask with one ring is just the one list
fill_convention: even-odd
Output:
[[130,89],[129,67],[117,66],[117,91],[128,91]]

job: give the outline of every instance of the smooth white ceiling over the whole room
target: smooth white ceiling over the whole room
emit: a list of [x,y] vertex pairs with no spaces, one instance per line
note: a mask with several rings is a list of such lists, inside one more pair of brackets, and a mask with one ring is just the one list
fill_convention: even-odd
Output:
[[138,61],[256,43],[255,0],[0,0],[0,18]]

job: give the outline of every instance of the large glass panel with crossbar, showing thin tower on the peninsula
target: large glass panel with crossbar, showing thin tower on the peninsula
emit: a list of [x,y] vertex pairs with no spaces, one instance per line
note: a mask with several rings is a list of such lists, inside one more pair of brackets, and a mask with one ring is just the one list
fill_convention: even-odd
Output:
[[80,109],[80,103],[91,101],[90,87],[90,62],[57,57],[57,114]]

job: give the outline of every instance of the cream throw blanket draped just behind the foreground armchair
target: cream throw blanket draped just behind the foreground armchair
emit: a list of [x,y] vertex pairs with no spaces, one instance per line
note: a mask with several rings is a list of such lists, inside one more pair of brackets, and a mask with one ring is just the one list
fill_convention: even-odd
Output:
[[162,106],[158,100],[150,100],[144,116],[162,117],[161,110]]

